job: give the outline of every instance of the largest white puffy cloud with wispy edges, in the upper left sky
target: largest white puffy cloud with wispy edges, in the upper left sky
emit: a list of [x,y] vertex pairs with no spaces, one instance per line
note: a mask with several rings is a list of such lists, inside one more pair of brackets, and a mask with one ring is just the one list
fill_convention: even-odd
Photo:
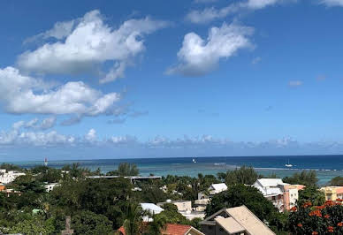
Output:
[[116,80],[124,77],[126,67],[145,49],[144,36],[167,25],[147,17],[129,19],[115,29],[105,24],[100,11],[89,11],[81,19],[57,23],[40,34],[43,38],[54,37],[57,42],[21,54],[19,68],[43,74],[80,74],[99,72],[107,62],[113,66],[100,82]]

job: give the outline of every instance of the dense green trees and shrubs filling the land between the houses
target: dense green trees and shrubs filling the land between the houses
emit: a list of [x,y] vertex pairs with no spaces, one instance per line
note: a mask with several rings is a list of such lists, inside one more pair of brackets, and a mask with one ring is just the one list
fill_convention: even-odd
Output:
[[[206,208],[208,216],[222,208],[246,205],[278,234],[290,231],[297,234],[329,232],[328,226],[339,231],[339,222],[333,218],[327,223],[321,218],[322,224],[315,230],[315,217],[309,214],[322,205],[325,206],[322,215],[343,219],[339,205],[325,204],[324,194],[316,188],[315,171],[303,171],[284,178],[285,182],[307,186],[300,192],[298,207],[289,215],[279,213],[271,201],[266,200],[254,187],[245,186],[263,177],[250,167],[218,173],[217,177],[202,174],[196,178],[169,175],[162,180],[136,182],[134,186],[128,178],[87,178],[100,175],[100,169],[89,171],[78,163],[67,165],[61,170],[46,166],[23,170],[11,164],[3,164],[1,167],[9,171],[23,171],[27,175],[16,178],[7,186],[20,194],[11,193],[7,197],[0,193],[0,233],[59,234],[65,229],[65,216],[72,217],[75,234],[114,234],[120,226],[126,228],[126,234],[160,234],[167,223],[190,224],[199,229],[200,219],[187,220],[170,203],[164,204],[162,213],[149,215],[154,218],[152,223],[144,224],[142,218],[147,216],[147,212],[141,209],[140,202],[157,203],[167,199],[194,201],[198,193],[206,192],[211,184],[220,182],[225,182],[229,186],[228,190],[212,198]],[[134,164],[122,163],[118,170],[107,174],[136,176],[139,171]],[[341,178],[334,178],[331,184],[339,184],[340,181]],[[59,185],[47,193],[44,185],[57,182]],[[309,202],[311,207],[302,206],[309,205]]]

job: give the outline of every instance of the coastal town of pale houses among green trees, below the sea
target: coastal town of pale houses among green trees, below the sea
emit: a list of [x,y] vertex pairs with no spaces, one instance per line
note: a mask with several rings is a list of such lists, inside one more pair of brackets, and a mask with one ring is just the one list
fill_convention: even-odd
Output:
[[[316,172],[258,175],[251,167],[197,178],[141,177],[121,163],[102,174],[0,167],[4,234],[326,234],[342,231],[343,178],[317,188]],[[314,225],[314,221],[320,224]],[[93,224],[89,226],[89,224]]]

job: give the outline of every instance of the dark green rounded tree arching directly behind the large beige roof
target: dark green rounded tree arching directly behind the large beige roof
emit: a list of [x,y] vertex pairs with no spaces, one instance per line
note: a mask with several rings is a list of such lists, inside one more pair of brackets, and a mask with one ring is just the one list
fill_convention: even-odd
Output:
[[206,208],[206,216],[210,216],[222,208],[234,208],[242,205],[245,205],[262,221],[270,220],[277,212],[271,201],[265,199],[255,187],[235,185],[229,186],[227,191],[213,196]]

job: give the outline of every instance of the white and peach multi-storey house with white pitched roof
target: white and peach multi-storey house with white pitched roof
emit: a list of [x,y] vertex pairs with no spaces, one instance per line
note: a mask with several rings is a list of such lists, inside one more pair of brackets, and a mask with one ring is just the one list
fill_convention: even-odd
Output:
[[301,185],[286,184],[281,178],[259,178],[253,186],[280,212],[293,208],[298,200],[299,190],[304,188]]

